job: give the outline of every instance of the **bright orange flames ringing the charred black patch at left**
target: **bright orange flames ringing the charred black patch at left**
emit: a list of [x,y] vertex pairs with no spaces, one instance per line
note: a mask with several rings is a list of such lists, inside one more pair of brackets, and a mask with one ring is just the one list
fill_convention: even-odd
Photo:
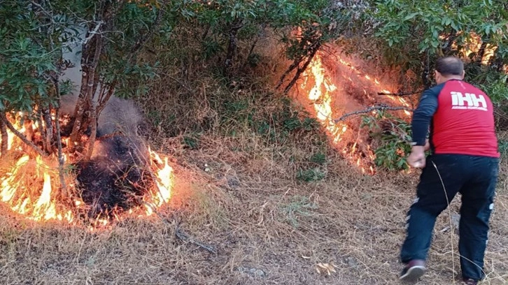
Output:
[[[22,128],[20,131],[24,131]],[[62,138],[66,140],[66,138]],[[67,193],[76,193],[71,197],[64,195],[60,184],[59,167],[55,155],[43,157],[22,150],[20,142],[13,133],[9,133],[8,147],[11,150],[7,159],[1,161],[0,200],[13,212],[32,221],[64,221],[78,224],[79,217],[87,211],[84,201],[77,194],[74,177],[69,171],[64,172]],[[130,208],[125,214],[148,216],[157,208],[169,203],[173,188],[173,169],[169,158],[148,150],[150,161],[148,168],[153,174],[153,187],[148,189],[142,200],[143,204]],[[64,154],[66,163],[69,157]],[[113,209],[91,218],[91,228],[106,226],[113,220],[122,219],[122,212]]]

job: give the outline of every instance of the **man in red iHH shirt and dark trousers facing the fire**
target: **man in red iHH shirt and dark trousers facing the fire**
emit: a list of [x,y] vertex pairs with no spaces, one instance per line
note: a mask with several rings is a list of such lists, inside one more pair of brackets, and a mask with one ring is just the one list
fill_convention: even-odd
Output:
[[[463,62],[456,57],[438,59],[435,79],[437,85],[423,92],[411,123],[413,147],[407,162],[423,170],[407,214],[400,252],[406,266],[400,279],[417,281],[424,274],[436,218],[459,192],[463,284],[477,284],[485,276],[488,221],[498,180],[493,105],[484,92],[463,81]],[[425,159],[427,149],[432,154]]]

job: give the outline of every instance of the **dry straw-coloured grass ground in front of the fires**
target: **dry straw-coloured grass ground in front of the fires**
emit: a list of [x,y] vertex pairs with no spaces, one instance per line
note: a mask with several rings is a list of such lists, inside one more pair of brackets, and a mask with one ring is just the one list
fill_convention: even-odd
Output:
[[[241,145],[230,139],[201,139],[201,149],[179,156],[170,203],[158,215],[90,232],[24,221],[0,204],[0,283],[399,284],[418,173],[361,175],[328,154],[326,179],[302,183],[281,158],[231,151]],[[506,166],[481,284],[507,284]],[[418,284],[459,284],[458,235],[445,230],[458,198],[437,221],[429,271]],[[333,263],[336,272],[319,274],[318,263]]]

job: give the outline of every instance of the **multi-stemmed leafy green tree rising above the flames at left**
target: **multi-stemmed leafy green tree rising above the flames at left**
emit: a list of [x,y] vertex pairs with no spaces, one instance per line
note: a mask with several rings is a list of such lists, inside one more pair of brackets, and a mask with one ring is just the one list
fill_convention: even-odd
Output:
[[[136,55],[161,24],[163,4],[155,0],[2,1],[3,124],[13,129],[6,115],[14,122],[36,122],[43,136],[42,149],[34,145],[28,133],[17,135],[37,152],[50,154],[55,145],[61,152],[59,120],[52,115],[59,117],[60,98],[72,93],[72,85],[78,84],[71,145],[83,149],[78,138],[90,127],[90,157],[94,122],[113,93],[127,97],[146,92],[142,83],[154,75],[153,69]],[[83,72],[78,82],[62,79],[66,69],[73,67],[63,54],[73,46],[80,47]]]

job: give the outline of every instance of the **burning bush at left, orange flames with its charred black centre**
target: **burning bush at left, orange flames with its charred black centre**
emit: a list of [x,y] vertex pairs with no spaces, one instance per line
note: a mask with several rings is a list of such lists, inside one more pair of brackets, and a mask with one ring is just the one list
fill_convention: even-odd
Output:
[[[27,126],[33,131],[34,145],[41,145],[38,128]],[[118,219],[122,212],[144,209],[151,214],[169,201],[171,167],[167,158],[146,148],[142,138],[110,133],[94,145],[92,157],[83,159],[63,143],[65,164],[59,170],[54,154],[43,156],[20,139],[11,140],[10,152],[1,163],[0,199],[35,221],[85,219],[102,224]]]

